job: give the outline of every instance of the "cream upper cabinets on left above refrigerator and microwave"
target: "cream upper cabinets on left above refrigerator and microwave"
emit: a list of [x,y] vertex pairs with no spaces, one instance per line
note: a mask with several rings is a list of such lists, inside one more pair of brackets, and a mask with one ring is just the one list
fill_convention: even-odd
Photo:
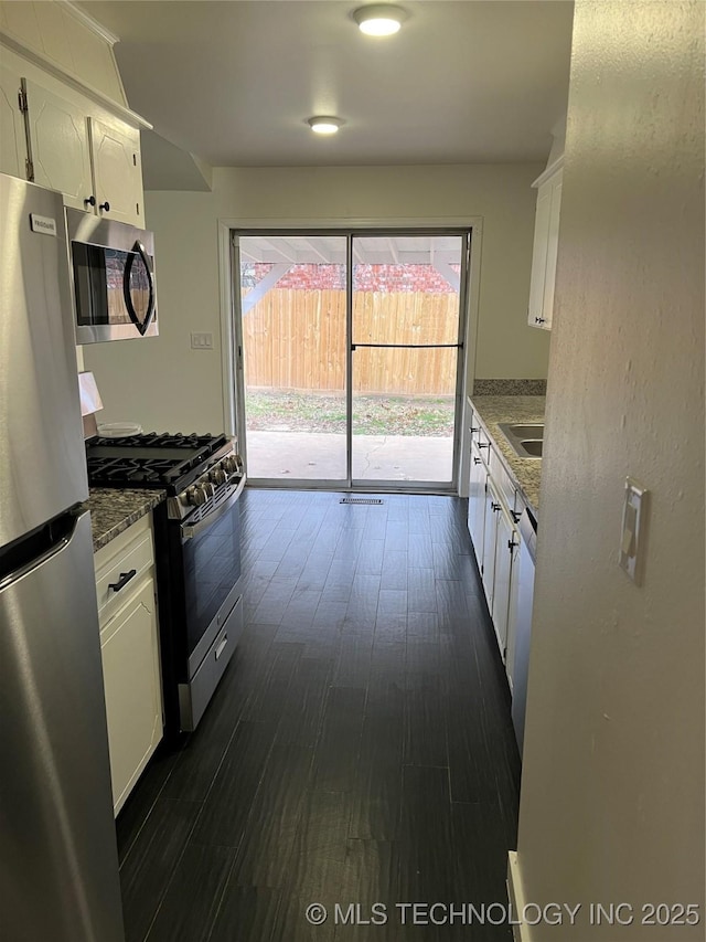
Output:
[[139,128],[151,125],[127,107],[116,41],[74,4],[0,0],[0,170],[145,227]]

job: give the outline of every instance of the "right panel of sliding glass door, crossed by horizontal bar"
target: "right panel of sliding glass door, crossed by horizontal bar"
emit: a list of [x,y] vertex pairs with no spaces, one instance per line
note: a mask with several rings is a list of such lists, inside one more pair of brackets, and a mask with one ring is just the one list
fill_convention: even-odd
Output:
[[352,478],[454,480],[461,235],[353,236]]

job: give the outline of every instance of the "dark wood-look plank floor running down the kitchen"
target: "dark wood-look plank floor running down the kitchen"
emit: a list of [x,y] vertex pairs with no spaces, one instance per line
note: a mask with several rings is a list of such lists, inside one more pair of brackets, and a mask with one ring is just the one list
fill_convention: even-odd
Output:
[[395,906],[507,901],[520,760],[467,505],[341,497],[244,494],[244,636],[118,819],[128,942],[512,938]]

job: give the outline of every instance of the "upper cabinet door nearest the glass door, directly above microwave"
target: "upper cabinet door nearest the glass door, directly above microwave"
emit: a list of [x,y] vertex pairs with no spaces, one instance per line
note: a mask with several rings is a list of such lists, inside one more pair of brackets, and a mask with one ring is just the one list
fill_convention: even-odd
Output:
[[128,125],[89,121],[98,214],[145,227],[140,133]]

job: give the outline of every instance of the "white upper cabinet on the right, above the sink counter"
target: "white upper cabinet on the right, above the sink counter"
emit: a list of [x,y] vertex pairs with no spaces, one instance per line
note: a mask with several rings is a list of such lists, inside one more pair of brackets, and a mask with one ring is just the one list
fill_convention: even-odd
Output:
[[533,186],[537,187],[537,211],[534,223],[532,279],[527,322],[531,327],[552,329],[554,285],[561,209],[563,161],[556,161]]

